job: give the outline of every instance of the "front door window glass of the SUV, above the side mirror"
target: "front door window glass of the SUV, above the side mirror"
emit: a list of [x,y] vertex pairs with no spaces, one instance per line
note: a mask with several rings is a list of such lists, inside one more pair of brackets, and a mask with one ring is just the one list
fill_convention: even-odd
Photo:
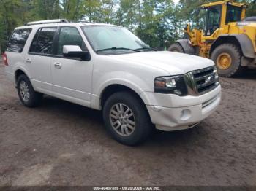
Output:
[[62,55],[64,45],[77,45],[81,48],[81,50],[86,50],[86,46],[78,32],[78,29],[74,27],[61,28],[57,47],[58,55]]

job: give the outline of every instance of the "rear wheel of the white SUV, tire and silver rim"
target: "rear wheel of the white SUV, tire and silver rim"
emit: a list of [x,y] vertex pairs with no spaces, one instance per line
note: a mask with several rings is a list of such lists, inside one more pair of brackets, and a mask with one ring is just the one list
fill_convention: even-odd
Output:
[[[21,74],[17,80],[17,90],[21,103],[27,107],[39,106],[42,102],[42,93],[37,93],[26,75]],[[29,93],[29,94],[27,94]]]

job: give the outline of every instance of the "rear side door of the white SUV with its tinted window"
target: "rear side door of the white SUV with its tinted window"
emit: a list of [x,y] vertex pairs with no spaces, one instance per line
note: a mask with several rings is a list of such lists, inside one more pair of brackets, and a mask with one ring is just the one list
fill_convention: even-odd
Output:
[[29,66],[31,82],[34,88],[42,93],[50,93],[52,90],[50,63],[56,31],[57,27],[39,28],[25,58],[25,63]]

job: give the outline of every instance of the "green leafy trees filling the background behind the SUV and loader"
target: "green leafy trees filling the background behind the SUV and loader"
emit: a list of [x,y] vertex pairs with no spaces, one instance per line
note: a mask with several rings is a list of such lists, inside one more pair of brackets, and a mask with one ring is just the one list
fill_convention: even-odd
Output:
[[[238,0],[239,1],[239,0]],[[249,3],[247,16],[256,15],[255,0]],[[95,23],[113,23],[135,32],[152,47],[164,47],[183,36],[186,23],[203,25],[198,8],[210,0],[1,0],[0,52],[17,26],[34,20],[66,18]]]

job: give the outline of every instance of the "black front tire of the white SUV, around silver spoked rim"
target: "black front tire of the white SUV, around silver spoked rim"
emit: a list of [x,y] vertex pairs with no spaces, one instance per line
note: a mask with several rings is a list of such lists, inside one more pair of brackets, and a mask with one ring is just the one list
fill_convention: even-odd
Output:
[[[118,116],[118,114],[115,114],[113,110],[115,112],[118,111],[116,106],[120,109],[120,104],[122,104],[124,111],[128,111],[128,108],[130,109],[130,112],[127,112],[127,114],[133,114],[133,116],[129,117],[129,122],[135,122],[135,125],[132,125],[132,123],[123,119],[123,128],[123,125],[121,125],[122,119],[120,119],[120,117],[118,119],[110,117],[110,114],[114,117]],[[108,133],[110,133],[113,139],[116,139],[116,141],[121,144],[128,146],[135,146],[145,141],[153,129],[146,106],[141,103],[140,99],[136,95],[129,91],[118,92],[110,95],[103,107],[103,119],[105,122],[105,128],[107,128]],[[115,125],[116,121],[119,122]],[[126,122],[129,123],[129,125],[125,125]],[[133,130],[131,129],[131,125],[134,127]],[[125,127],[127,130],[125,130]],[[121,135],[122,129],[126,135]]]

